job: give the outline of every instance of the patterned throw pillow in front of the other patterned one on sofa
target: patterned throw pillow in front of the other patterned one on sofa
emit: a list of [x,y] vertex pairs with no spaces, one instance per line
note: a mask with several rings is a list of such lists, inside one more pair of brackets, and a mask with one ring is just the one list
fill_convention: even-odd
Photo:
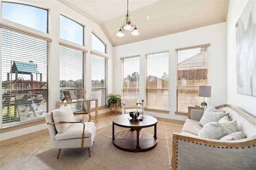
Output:
[[224,122],[209,122],[198,133],[199,137],[207,139],[221,139],[230,133],[237,132],[236,120]]

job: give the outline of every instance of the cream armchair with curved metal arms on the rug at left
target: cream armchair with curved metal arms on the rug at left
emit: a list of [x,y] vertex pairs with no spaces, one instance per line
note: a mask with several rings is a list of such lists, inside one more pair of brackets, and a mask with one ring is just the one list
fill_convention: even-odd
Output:
[[88,148],[94,143],[96,127],[93,122],[76,121],[68,106],[55,109],[45,114],[46,123],[54,148],[58,148],[58,156],[63,148]]

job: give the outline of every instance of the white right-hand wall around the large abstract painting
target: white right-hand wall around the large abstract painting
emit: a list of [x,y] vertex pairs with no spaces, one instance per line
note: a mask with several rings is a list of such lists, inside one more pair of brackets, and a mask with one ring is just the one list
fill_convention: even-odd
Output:
[[[248,0],[231,0],[227,18],[227,102],[256,117],[256,97],[236,92],[236,22]],[[255,10],[255,9],[254,9]],[[255,57],[255,56],[254,56]]]

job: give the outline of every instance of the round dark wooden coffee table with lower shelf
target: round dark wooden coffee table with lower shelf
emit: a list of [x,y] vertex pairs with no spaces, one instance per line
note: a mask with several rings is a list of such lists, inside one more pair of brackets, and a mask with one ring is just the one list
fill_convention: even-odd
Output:
[[[145,118],[143,121],[129,121],[129,117],[129,114],[124,114],[113,118],[112,141],[114,146],[116,146],[118,149],[129,152],[143,152],[153,149],[157,144],[157,119],[149,115],[144,115]],[[132,131],[131,129],[128,129],[126,131],[121,131],[114,134],[114,125],[131,129],[133,128],[135,130]],[[140,129],[151,126],[154,126],[154,135],[145,131],[140,134]],[[119,136],[120,134],[123,136],[115,138],[115,135]]]

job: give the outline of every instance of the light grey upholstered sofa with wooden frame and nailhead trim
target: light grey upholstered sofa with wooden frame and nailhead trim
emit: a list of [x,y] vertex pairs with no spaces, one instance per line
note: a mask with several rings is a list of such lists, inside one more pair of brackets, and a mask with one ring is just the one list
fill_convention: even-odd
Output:
[[[236,123],[236,130],[238,133],[242,132],[245,138],[232,137],[234,131],[232,128],[229,131],[228,126],[224,126],[225,132],[220,132],[222,135],[215,134],[210,138],[205,137],[207,136],[205,133],[211,131],[206,128],[208,125],[216,127],[222,125],[223,122],[219,123],[220,120],[214,123],[204,122],[206,125],[202,126],[199,123],[202,121],[202,117],[205,118],[206,109],[188,107],[188,119],[183,125],[182,132],[173,133],[172,158],[170,160],[173,170],[256,169],[256,118],[232,105],[225,104],[215,108],[218,110],[216,112],[229,113],[229,122]],[[223,135],[223,133],[228,135]]]

